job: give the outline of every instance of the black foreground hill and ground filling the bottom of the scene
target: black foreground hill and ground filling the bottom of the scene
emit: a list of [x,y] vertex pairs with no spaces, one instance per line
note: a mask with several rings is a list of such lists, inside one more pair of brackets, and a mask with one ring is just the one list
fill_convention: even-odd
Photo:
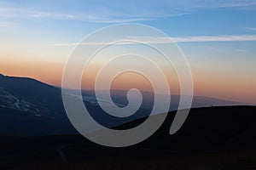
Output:
[[0,169],[256,169],[255,113],[254,106],[192,109],[183,127],[169,135],[173,111],[153,136],[125,148],[79,135],[2,136]]

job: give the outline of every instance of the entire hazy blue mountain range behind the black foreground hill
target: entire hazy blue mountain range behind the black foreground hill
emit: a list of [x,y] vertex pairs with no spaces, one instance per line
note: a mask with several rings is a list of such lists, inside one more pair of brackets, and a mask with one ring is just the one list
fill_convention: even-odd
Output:
[[[127,105],[126,91],[113,90],[115,105]],[[128,117],[110,116],[102,111],[99,103],[109,105],[104,99],[96,99],[93,91],[83,91],[84,105],[91,116],[105,127],[115,127],[150,114],[152,93],[143,92],[143,105]],[[172,96],[170,111],[177,110],[179,96]],[[165,101],[163,101],[165,102]],[[193,107],[205,105],[238,105],[237,102],[194,97]],[[61,88],[56,88],[26,77],[0,75],[0,135],[42,136],[77,133],[69,122],[61,99]],[[86,120],[85,122],[86,123]]]

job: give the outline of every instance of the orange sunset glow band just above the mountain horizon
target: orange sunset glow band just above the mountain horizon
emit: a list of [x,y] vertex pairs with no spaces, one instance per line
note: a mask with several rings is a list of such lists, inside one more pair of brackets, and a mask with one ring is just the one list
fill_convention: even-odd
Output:
[[[4,60],[0,63],[0,72],[6,76],[31,77],[38,81],[49,83],[50,85],[61,87],[62,71],[64,63],[54,62],[13,62]],[[85,72],[82,78],[82,88],[94,89],[96,72],[100,65],[90,66],[90,72]],[[248,77],[239,77],[236,75],[221,74],[215,71],[206,71],[192,68],[195,95],[207,96],[218,99],[229,99],[243,103],[255,103],[256,98],[256,80]],[[169,74],[166,74],[169,75]],[[170,76],[170,75],[169,75]],[[178,82],[175,78],[170,78],[171,93],[178,94]],[[144,91],[151,91],[152,87],[147,80],[136,75],[126,74],[117,77],[113,83],[114,89],[127,89],[136,86]]]

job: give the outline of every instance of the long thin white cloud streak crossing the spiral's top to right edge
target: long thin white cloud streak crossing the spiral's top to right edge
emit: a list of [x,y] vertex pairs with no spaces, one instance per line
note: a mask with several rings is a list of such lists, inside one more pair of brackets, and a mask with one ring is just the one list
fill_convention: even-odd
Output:
[[[131,41],[129,41],[131,40]],[[256,41],[256,35],[228,35],[228,36],[198,36],[198,37],[125,37],[124,42],[119,44],[137,44],[144,42],[148,44],[172,43],[172,42],[246,42]],[[114,42],[114,40],[113,40]],[[76,45],[106,45],[113,42],[71,42],[55,43],[51,46],[76,46]]]

